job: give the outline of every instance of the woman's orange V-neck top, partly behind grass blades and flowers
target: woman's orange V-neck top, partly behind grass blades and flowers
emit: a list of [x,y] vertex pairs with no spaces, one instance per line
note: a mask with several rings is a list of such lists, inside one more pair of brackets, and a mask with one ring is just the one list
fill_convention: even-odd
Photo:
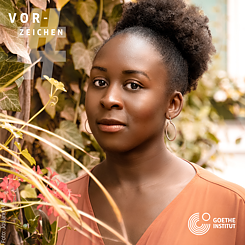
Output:
[[[194,178],[159,214],[136,245],[245,245],[245,189],[191,164],[196,170]],[[88,184],[86,174],[69,182],[68,188],[82,196],[78,209],[94,216]],[[86,217],[83,220],[99,233],[95,222]],[[59,227],[65,225],[63,220],[59,221]],[[65,228],[58,233],[58,245],[104,245],[101,238],[92,238],[93,242]]]

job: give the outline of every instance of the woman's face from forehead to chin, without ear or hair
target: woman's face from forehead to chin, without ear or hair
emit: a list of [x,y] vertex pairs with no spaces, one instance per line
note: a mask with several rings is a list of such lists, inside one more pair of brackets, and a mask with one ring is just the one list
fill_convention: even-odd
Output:
[[90,128],[105,152],[126,152],[163,140],[169,106],[167,72],[143,38],[121,34],[98,52],[86,94]]

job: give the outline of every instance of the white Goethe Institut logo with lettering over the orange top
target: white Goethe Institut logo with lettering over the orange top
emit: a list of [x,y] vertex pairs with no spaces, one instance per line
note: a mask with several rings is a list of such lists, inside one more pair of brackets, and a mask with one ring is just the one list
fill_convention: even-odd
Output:
[[235,229],[236,219],[235,218],[212,218],[211,219],[211,215],[209,213],[203,213],[201,217],[199,213],[194,213],[188,219],[188,228],[192,234],[201,236],[206,234],[210,230],[210,228]]

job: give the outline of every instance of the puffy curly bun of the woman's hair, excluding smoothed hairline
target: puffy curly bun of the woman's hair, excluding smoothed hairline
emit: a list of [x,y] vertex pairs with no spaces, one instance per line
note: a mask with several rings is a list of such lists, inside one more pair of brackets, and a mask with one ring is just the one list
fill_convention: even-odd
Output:
[[139,0],[124,5],[114,33],[141,26],[167,37],[187,61],[190,91],[196,88],[198,78],[208,69],[215,53],[208,22],[198,7],[183,0]]

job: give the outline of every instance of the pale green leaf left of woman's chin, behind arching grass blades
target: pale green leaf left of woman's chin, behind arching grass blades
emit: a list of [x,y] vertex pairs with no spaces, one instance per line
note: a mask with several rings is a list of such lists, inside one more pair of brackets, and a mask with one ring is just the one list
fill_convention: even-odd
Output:
[[[70,140],[80,147],[84,147],[81,133],[79,132],[77,125],[71,121],[62,121],[60,123],[60,127],[58,129],[55,129],[55,133],[60,135],[61,137],[64,137],[67,140]],[[66,142],[64,142],[64,145],[70,149],[75,149],[74,146]]]

